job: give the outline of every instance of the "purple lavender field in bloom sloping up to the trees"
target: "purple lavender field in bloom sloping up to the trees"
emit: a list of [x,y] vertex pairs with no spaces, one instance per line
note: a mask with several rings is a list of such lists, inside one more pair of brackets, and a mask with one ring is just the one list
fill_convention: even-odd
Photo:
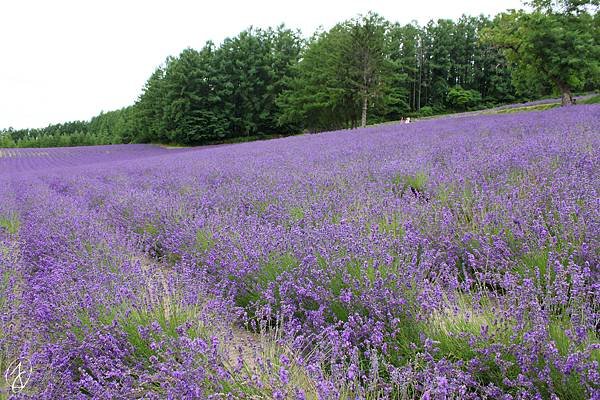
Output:
[[600,399],[599,151],[597,105],[0,149],[0,398]]

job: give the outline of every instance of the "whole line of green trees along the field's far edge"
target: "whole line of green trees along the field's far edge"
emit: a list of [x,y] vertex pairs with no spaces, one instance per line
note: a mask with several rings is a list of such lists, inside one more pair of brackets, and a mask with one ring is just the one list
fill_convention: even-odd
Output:
[[205,144],[488,108],[600,81],[597,0],[424,26],[368,13],[304,38],[249,28],[168,57],[135,104],[90,121],[0,131],[0,147]]

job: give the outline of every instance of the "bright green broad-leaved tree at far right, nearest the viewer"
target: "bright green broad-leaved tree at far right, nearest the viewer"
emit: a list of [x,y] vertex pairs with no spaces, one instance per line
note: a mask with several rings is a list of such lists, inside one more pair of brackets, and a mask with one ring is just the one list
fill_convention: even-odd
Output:
[[514,64],[516,86],[551,83],[563,105],[572,91],[597,85],[600,77],[598,14],[581,0],[536,0],[533,12],[511,10],[498,15],[485,40],[503,49]]

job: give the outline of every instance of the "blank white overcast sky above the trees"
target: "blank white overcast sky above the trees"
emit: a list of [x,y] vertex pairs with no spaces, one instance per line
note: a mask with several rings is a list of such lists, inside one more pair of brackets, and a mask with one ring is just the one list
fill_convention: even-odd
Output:
[[373,10],[391,21],[494,15],[520,0],[0,0],[0,128],[89,119],[132,104],[168,55],[250,25],[318,26]]

